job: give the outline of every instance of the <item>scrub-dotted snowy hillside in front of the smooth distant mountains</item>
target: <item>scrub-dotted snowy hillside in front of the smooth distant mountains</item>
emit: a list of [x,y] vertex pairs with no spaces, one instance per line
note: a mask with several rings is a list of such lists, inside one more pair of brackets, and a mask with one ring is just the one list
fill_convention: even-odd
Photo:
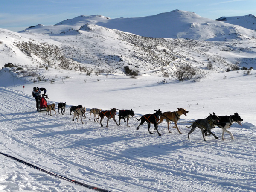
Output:
[[88,73],[99,70],[123,73],[123,68],[130,66],[140,73],[157,76],[164,72],[171,74],[177,64],[207,70],[210,62],[215,72],[224,72],[234,64],[255,68],[256,41],[245,35],[197,41],[145,38],[91,24],[79,29],[61,34],[15,33],[2,29],[0,67],[13,63]]

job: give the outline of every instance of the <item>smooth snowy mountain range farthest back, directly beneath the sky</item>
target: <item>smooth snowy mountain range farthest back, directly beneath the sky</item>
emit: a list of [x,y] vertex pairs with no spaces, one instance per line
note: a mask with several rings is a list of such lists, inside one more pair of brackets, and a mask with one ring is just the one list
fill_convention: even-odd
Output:
[[[247,19],[247,17],[245,18]],[[244,22],[244,21],[243,21]],[[239,22],[240,23],[240,22]],[[78,30],[82,25],[95,24],[110,29],[117,29],[144,37],[153,38],[189,38],[207,40],[210,38],[238,33],[249,37],[256,32],[247,28],[200,17],[194,12],[174,10],[147,17],[110,19],[102,15],[75,17],[55,24],[54,26],[38,25],[26,29],[32,33],[55,33]],[[248,24],[250,25],[250,24]],[[253,24],[251,24],[253,26]]]

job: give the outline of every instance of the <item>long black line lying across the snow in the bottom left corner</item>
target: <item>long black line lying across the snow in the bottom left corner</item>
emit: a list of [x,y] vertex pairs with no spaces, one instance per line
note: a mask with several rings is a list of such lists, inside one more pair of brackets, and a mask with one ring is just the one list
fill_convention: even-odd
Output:
[[101,189],[101,188],[98,188],[98,187],[95,187],[95,186],[87,185],[87,184],[85,184],[85,183],[81,183],[81,182],[79,182],[79,181],[76,181],[76,180],[73,180],[73,179],[69,179],[69,178],[67,178],[67,177],[64,177],[64,176],[61,176],[61,175],[58,175],[58,174],[49,172],[49,171],[47,171],[47,170],[45,170],[45,169],[41,169],[41,168],[38,167],[38,166],[34,166],[34,165],[32,165],[32,164],[30,164],[30,163],[27,163],[27,162],[25,162],[25,161],[23,161],[23,160],[17,159],[16,157],[12,157],[12,156],[10,156],[10,155],[8,155],[8,154],[4,154],[4,153],[2,153],[2,152],[0,152],[0,154],[4,155],[4,156],[6,156],[6,157],[9,157],[9,158],[11,158],[11,159],[13,159],[13,160],[16,160],[16,161],[19,162],[19,163],[22,163],[22,164],[24,164],[24,165],[30,166],[30,167],[32,167],[32,168],[34,168],[34,169],[37,169],[37,170],[39,170],[39,171],[41,171],[41,172],[45,172],[45,173],[47,173],[47,174],[49,174],[49,175],[58,177],[58,178],[63,179],[63,180],[67,180],[67,181],[69,181],[69,182],[71,182],[71,183],[76,183],[76,184],[78,184],[78,185],[80,185],[80,186],[83,186],[83,187],[86,187],[86,188],[88,188],[88,189],[92,189],[92,190],[94,190],[94,191],[99,191],[99,192],[111,192],[111,191],[106,190],[106,189]]

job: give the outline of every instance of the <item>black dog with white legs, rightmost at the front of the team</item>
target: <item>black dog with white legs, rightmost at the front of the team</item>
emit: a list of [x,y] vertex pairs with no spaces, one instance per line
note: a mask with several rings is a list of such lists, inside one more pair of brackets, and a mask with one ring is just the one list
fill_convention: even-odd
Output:
[[[234,139],[233,134],[230,131],[227,131],[227,129],[231,127],[233,122],[237,122],[239,125],[242,126],[240,121],[243,121],[243,119],[238,115],[238,113],[235,113],[234,115],[230,115],[230,116],[228,115],[219,116],[219,118],[221,118],[221,120],[219,122],[215,122],[214,124],[217,125],[219,128],[222,128],[222,137],[221,137],[222,140],[225,140],[224,139],[225,132],[230,134],[231,139]],[[215,128],[215,126],[212,128]],[[204,130],[204,132],[206,132],[206,130]]]

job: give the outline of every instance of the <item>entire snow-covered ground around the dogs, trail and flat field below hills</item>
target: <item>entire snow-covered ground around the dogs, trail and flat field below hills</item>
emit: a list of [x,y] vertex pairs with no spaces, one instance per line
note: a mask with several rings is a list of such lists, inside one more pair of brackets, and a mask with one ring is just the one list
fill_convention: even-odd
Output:
[[[242,71],[228,72],[224,79],[223,73],[217,73],[197,83],[168,80],[164,84],[160,83],[163,78],[147,75],[131,79],[120,74],[86,76],[55,69],[47,73],[70,78],[56,79],[53,84],[24,84],[8,70],[1,71],[0,81],[6,82],[6,87],[0,88],[1,152],[116,192],[256,190],[254,70],[247,76]],[[34,86],[47,89],[48,104],[67,102],[66,113],[38,113],[32,97]],[[80,119],[79,123],[72,121],[71,105],[87,108],[84,124]],[[130,127],[123,120],[116,126],[111,119],[108,128],[104,119],[101,128],[99,123],[89,121],[90,108],[133,109],[137,118],[154,113],[154,109],[164,112],[185,108],[189,113],[178,122],[183,134],[174,128],[168,133],[163,122],[159,125],[162,136],[158,136],[153,128],[153,134],[149,134],[146,124],[136,130],[139,122],[134,118],[129,121]],[[188,140],[186,126],[212,112],[239,113],[244,119],[242,126],[234,123],[229,128],[235,139],[225,134],[227,140],[221,140],[222,130],[215,128],[220,139],[208,136],[205,142],[197,128]],[[1,190],[91,191],[5,156],[0,160]]]

